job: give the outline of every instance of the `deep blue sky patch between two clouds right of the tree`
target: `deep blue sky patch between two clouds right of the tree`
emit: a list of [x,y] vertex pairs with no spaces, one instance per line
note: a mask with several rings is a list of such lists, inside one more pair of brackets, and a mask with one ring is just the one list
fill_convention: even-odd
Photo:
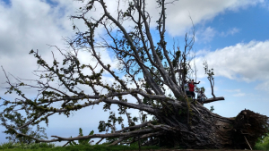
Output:
[[[222,13],[216,16],[213,21],[197,25],[197,29],[213,28],[216,31],[216,35],[205,45],[197,42],[195,46],[199,47],[197,49],[211,46],[213,51],[225,46],[233,46],[240,42],[248,43],[251,40],[264,41],[268,38],[269,33],[269,20],[266,17],[268,17],[268,9],[262,5]],[[225,33],[232,29],[237,29],[234,34],[221,35],[221,32]]]

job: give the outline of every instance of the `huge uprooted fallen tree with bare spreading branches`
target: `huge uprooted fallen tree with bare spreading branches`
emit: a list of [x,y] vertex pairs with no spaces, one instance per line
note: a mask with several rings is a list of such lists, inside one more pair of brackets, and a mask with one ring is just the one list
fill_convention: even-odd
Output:
[[[7,93],[14,91],[20,97],[14,101],[2,98],[3,105],[6,105],[0,113],[2,125],[17,134],[17,137],[32,138],[37,142],[110,138],[110,145],[141,141],[143,145],[187,148],[253,147],[257,138],[268,132],[268,117],[249,110],[243,110],[236,118],[221,117],[186,96],[181,86],[191,71],[190,51],[195,42],[195,32],[190,37],[186,35],[182,50],[179,47],[168,50],[165,41],[165,10],[170,3],[165,0],[156,2],[160,10],[156,27],[158,41],[152,38],[151,16],[146,12],[144,0],[128,1],[126,10],[117,8],[116,16],[108,12],[108,6],[103,0],[87,1],[81,8],[81,14],[71,18],[84,21],[88,29],[81,31],[74,25],[76,36],[67,40],[72,51],[64,53],[55,46],[65,57],[62,63],[53,55],[53,62],[49,64],[38,51],[31,50],[30,54],[37,58],[37,63],[45,70],[38,75],[39,80],[35,80],[37,85],[30,85],[20,79],[13,84],[6,75],[10,86]],[[89,16],[99,7],[102,9],[100,16]],[[132,24],[124,26],[125,21]],[[96,38],[95,31],[98,28],[106,34]],[[100,56],[101,48],[115,55],[118,68],[104,63]],[[83,50],[91,54],[96,64],[81,63],[78,54]],[[125,76],[122,76],[123,73]],[[114,81],[106,83],[103,80],[106,75]],[[213,93],[213,74],[209,76]],[[58,87],[51,84],[55,80],[59,83]],[[90,90],[81,89],[85,86]],[[38,88],[36,99],[30,99],[24,94],[21,90],[24,87]],[[167,91],[172,95],[168,95]],[[133,97],[137,102],[130,102],[124,97]],[[224,97],[213,95],[204,103],[218,100],[224,100]],[[61,107],[56,107],[56,103],[60,103]],[[19,132],[39,122],[48,124],[49,116],[56,113],[64,113],[68,117],[71,112],[100,103],[105,103],[104,110],[109,110],[111,105],[118,105],[118,114],[127,116],[128,126],[123,125],[121,116],[110,113],[108,122],[101,121],[98,127],[100,132],[111,130],[107,134],[74,138],[51,136],[54,139],[45,140]],[[140,111],[142,123],[138,124],[137,118],[131,117],[128,113],[130,108]],[[26,113],[28,121],[20,126],[9,124],[13,113],[19,111]],[[153,116],[152,120],[147,120],[149,115]],[[122,130],[116,130],[116,122],[123,125]]]

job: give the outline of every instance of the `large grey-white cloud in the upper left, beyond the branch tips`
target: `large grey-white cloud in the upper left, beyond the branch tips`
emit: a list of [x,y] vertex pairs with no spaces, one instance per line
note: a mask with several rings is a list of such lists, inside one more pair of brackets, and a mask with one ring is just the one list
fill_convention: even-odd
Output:
[[[56,5],[45,3],[39,0],[12,0],[10,6],[0,4],[0,65],[6,72],[12,73],[15,77],[33,80],[37,79],[32,71],[38,69],[37,60],[29,55],[31,49],[39,49],[48,64],[52,63],[52,53],[58,61],[63,56],[56,53],[55,47],[66,48],[63,37],[71,37],[74,34],[72,22],[69,16],[74,14],[81,3],[73,0],[56,1]],[[85,26],[80,21],[75,21],[77,26],[83,30]],[[66,48],[68,51],[68,48]],[[111,69],[117,67],[117,62],[110,58],[108,51],[100,51],[103,63],[110,64]],[[79,58],[82,63],[96,63],[91,60],[88,52],[81,51]],[[39,69],[42,70],[42,69]],[[100,70],[100,68],[99,68]],[[4,94],[5,81],[4,72],[0,71],[1,94]],[[35,90],[27,90],[30,95],[35,95]],[[7,96],[5,96],[7,97]]]

